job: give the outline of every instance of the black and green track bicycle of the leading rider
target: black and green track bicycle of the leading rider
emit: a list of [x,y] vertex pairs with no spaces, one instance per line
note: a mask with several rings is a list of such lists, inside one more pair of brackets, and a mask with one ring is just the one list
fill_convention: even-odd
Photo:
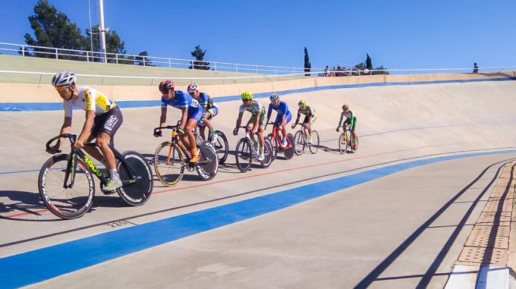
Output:
[[[56,151],[61,154],[52,156],[43,164],[39,171],[38,189],[41,200],[50,212],[62,219],[71,220],[83,216],[92,208],[95,196],[92,175],[100,180],[100,188],[107,184],[109,178],[86,156],[83,149],[74,148],[73,144],[77,139],[74,134],[63,133],[51,138],[46,144],[47,151],[50,144],[58,138],[68,138],[72,150],[70,153]],[[95,143],[85,143],[83,147],[95,147]],[[104,194],[116,192],[130,206],[145,204],[151,197],[154,184],[147,160],[136,151],[119,153],[114,147],[113,139],[109,147],[116,158],[116,170],[122,187]]]

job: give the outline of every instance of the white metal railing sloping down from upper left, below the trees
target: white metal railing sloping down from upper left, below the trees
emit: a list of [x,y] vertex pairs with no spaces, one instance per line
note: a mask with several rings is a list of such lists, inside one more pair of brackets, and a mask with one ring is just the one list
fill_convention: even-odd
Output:
[[[74,61],[98,62],[107,59],[108,63],[116,64],[132,64],[142,66],[158,66],[169,68],[189,68],[208,67],[214,71],[223,72],[244,72],[252,74],[296,74],[304,72],[303,67],[285,67],[285,66],[271,66],[271,65],[257,65],[257,64],[243,64],[243,63],[228,63],[220,61],[202,61],[209,63],[209,65],[202,65],[200,61],[193,59],[145,56],[136,54],[120,54],[120,53],[103,53],[92,52],[85,50],[73,50],[66,48],[42,47],[15,43],[0,42],[0,51],[8,52],[9,54],[25,56],[36,56],[44,58],[65,59]],[[312,71],[322,71],[323,69],[312,69]]]

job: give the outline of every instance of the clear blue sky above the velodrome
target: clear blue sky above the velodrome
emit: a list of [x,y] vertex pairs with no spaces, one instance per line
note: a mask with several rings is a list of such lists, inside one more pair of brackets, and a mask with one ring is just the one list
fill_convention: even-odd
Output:
[[[96,0],[91,0],[92,6]],[[1,0],[0,42],[25,43],[37,0]],[[87,0],[50,0],[84,33]],[[515,0],[104,0],[105,25],[128,53],[312,67],[516,65]],[[92,11],[92,14],[94,12]],[[97,19],[96,14],[92,17]]]

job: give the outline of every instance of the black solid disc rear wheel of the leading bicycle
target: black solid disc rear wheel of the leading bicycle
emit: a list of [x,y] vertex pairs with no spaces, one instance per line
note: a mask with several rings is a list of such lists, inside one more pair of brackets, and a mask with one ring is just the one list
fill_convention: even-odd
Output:
[[[122,153],[122,157],[125,162],[127,162],[127,165],[129,165],[134,171],[136,177],[141,179],[134,180],[134,182],[131,181],[131,183],[125,184],[116,191],[122,200],[130,206],[141,206],[149,200],[154,187],[151,166],[149,166],[149,163],[145,160],[144,156],[140,155],[140,153],[137,153],[136,151],[126,151],[125,153]],[[120,180],[122,180],[122,182],[131,180],[133,175],[129,173],[125,165],[122,164],[120,160],[116,160],[116,162],[116,169],[118,171],[118,175],[120,175]]]

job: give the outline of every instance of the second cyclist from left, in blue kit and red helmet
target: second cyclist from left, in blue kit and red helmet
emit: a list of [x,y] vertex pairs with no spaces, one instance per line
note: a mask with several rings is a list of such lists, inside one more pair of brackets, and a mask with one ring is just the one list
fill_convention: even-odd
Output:
[[[189,94],[175,90],[173,81],[162,81],[159,89],[162,93],[160,127],[164,127],[166,122],[167,105],[181,109],[182,115],[178,133],[180,133],[180,139],[185,144],[185,147],[187,149],[190,148],[192,153],[190,162],[198,162],[199,153],[197,153],[197,144],[195,143],[195,136],[192,130],[197,125],[202,124],[204,120],[204,109],[202,109],[199,102],[193,99]],[[154,136],[162,136],[162,131],[156,131]]]

